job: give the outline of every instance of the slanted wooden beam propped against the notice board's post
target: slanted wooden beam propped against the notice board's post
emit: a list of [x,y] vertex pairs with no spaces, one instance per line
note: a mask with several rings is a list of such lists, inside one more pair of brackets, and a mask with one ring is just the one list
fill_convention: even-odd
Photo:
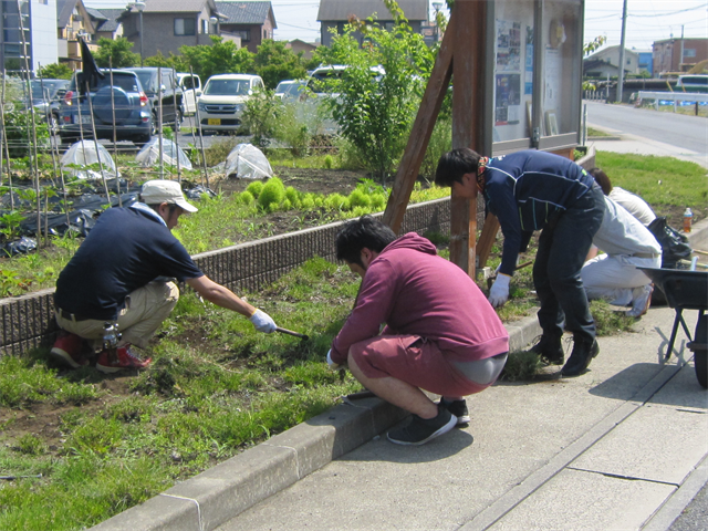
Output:
[[450,84],[452,75],[452,39],[455,34],[455,19],[450,19],[440,50],[433,65],[430,79],[425,88],[418,114],[410,129],[408,144],[404,152],[394,186],[388,197],[386,211],[384,212],[384,223],[394,232],[400,230],[403,217],[410,199],[410,192],[418,178],[418,171],[428,148],[433,128],[440,112],[440,106],[445,100],[445,94]]

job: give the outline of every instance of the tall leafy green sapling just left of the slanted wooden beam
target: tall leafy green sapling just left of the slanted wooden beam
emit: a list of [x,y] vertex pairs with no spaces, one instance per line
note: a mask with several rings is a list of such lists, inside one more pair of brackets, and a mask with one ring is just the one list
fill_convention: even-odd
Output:
[[[382,180],[403,154],[434,62],[433,51],[423,35],[413,32],[398,4],[384,1],[395,21],[391,31],[373,19],[354,21],[334,38],[330,49],[319,49],[323,62],[347,65],[341,79],[329,86],[336,97],[326,98],[324,104],[331,108],[342,136],[362,153]],[[355,30],[366,39],[361,48],[353,37]],[[385,75],[373,75],[371,69],[377,65],[383,66]]]

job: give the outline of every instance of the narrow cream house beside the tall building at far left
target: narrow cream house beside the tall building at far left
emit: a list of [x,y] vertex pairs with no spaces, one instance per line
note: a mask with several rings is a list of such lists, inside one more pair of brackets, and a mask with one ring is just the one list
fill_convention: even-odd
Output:
[[69,64],[72,70],[81,69],[79,35],[86,41],[92,52],[98,48],[93,40],[95,21],[82,0],[56,0],[55,31],[59,62]]

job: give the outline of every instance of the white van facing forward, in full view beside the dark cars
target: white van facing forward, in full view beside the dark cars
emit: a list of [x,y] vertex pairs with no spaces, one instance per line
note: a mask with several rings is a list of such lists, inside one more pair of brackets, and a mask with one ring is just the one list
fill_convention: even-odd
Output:
[[218,74],[207,80],[197,105],[201,131],[237,131],[249,97],[263,88],[263,80],[250,74]]

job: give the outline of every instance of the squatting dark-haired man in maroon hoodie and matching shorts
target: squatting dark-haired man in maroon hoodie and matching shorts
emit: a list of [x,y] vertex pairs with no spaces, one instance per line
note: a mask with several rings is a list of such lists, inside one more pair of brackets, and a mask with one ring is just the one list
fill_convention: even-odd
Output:
[[347,364],[367,389],[413,414],[388,440],[423,445],[469,423],[464,397],[494,383],[509,351],[509,334],[477,284],[429,240],[396,238],[368,216],[340,230],[336,257],[363,280],[327,363]]

